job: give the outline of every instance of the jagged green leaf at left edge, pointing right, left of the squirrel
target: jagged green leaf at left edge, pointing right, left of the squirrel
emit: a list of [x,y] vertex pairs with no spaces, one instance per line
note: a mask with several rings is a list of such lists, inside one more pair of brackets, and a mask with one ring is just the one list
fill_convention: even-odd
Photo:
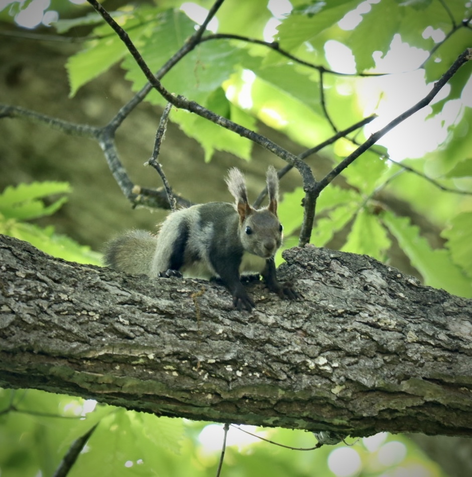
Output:
[[61,197],[50,205],[40,200],[51,195],[70,192],[67,182],[33,182],[8,186],[0,194],[0,214],[4,219],[30,220],[56,212],[67,201]]

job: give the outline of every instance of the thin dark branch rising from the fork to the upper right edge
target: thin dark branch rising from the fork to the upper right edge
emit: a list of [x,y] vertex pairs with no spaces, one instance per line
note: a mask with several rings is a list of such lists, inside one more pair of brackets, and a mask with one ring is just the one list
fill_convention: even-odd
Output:
[[424,106],[428,105],[434,96],[442,89],[442,87],[449,81],[450,78],[457,72],[457,70],[467,61],[472,59],[472,48],[467,48],[461,53],[451,67],[442,75],[442,77],[434,83],[431,91],[414,106],[407,109],[402,114],[398,115],[387,126],[374,133],[367,141],[359,146],[352,154],[347,156],[336,167],[332,169],[321,181],[316,184],[315,191],[319,194],[335,177],[337,177],[347,166],[352,164],[362,153],[366,152],[371,146],[373,146],[380,138],[385,136],[394,127],[405,121],[408,117],[419,111]]

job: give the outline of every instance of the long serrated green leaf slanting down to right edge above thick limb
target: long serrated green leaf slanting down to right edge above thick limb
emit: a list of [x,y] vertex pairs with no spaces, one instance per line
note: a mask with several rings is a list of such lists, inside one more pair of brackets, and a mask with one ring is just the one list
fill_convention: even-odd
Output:
[[453,263],[448,250],[431,249],[427,240],[420,235],[419,227],[412,225],[408,217],[398,217],[386,211],[381,218],[412,266],[421,273],[426,285],[443,288],[455,295],[472,297],[472,282]]

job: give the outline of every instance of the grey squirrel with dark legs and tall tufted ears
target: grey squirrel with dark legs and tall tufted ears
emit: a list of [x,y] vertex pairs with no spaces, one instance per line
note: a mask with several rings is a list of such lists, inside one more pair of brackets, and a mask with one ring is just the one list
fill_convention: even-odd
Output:
[[249,204],[239,169],[230,169],[225,182],[235,206],[209,202],[178,209],[167,216],[157,235],[130,230],[108,242],[105,265],[151,277],[218,276],[240,311],[255,306],[241,283],[243,272],[260,273],[266,286],[281,298],[297,298],[290,284],[281,284],[276,277],[274,255],[283,237],[277,217],[277,171],[272,166],[267,171],[269,205],[259,209]]

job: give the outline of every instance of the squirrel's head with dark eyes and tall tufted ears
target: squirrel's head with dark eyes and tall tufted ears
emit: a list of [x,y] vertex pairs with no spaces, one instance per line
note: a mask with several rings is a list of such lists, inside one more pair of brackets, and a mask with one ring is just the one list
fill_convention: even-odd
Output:
[[267,190],[269,205],[260,209],[251,207],[248,201],[246,182],[243,173],[237,169],[229,170],[226,184],[236,200],[239,233],[246,252],[268,259],[273,257],[282,244],[282,224],[277,217],[279,179],[273,166],[267,170]]

